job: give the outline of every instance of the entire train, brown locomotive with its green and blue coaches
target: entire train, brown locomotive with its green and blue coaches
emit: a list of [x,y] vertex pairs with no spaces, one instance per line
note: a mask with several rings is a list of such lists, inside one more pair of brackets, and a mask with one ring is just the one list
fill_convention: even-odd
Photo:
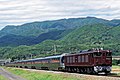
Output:
[[108,74],[112,68],[112,52],[103,49],[90,49],[77,53],[20,60],[6,64],[7,67],[59,70],[67,72]]

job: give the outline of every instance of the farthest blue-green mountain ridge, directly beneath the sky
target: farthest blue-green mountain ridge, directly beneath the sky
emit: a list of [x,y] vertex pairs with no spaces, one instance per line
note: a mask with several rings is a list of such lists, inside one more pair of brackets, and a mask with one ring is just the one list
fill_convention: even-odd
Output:
[[70,18],[70,19],[60,19],[54,21],[43,21],[43,22],[32,22],[23,24],[20,26],[6,26],[0,31],[0,37],[8,34],[21,35],[21,36],[39,36],[44,32],[49,32],[51,30],[68,30],[76,27],[81,27],[89,24],[102,23],[108,26],[118,25],[118,21],[108,21],[95,17],[86,18]]

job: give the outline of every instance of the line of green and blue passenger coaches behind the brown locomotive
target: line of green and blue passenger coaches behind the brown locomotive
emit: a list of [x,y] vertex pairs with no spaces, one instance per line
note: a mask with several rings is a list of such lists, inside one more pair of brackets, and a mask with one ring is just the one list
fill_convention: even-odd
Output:
[[44,58],[36,58],[30,60],[21,60],[6,64],[8,67],[44,69],[44,70],[63,70],[64,64],[62,55],[49,56]]

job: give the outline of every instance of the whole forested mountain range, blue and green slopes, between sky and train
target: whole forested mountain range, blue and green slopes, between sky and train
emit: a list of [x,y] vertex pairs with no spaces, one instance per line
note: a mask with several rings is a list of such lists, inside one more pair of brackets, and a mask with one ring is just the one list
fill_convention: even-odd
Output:
[[[45,23],[47,23],[46,26]],[[101,47],[112,50],[113,55],[120,55],[119,20],[108,21],[87,17],[35,22],[34,24],[42,24],[39,26],[40,30],[33,23],[24,24],[27,28],[21,25],[5,27],[1,30],[0,45],[4,47],[0,48],[0,57],[27,59],[31,55],[36,58]],[[33,26],[39,31],[34,34],[34,29],[31,30],[25,25],[31,25],[30,27]],[[33,31],[34,35],[32,32],[28,34],[29,30]]]

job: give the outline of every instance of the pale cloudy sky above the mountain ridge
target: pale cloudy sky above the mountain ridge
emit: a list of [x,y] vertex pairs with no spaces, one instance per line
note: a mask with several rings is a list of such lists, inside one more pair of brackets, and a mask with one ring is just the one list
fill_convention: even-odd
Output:
[[120,19],[120,0],[0,0],[0,29],[6,25],[87,16]]

